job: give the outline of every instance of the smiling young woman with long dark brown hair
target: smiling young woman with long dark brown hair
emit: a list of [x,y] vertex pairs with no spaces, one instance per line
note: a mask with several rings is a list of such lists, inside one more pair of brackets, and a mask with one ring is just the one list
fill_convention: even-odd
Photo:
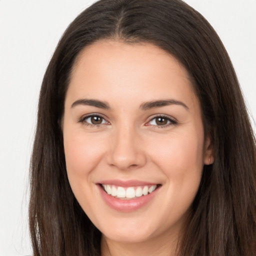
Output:
[[255,140],[229,57],[179,0],[100,0],[46,70],[34,255],[253,255]]

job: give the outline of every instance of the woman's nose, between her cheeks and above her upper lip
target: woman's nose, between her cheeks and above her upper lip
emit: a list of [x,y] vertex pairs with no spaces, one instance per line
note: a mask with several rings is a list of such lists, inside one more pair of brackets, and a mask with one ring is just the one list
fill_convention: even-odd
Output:
[[121,170],[143,166],[146,163],[146,154],[142,144],[138,131],[132,127],[120,127],[111,136],[108,164]]

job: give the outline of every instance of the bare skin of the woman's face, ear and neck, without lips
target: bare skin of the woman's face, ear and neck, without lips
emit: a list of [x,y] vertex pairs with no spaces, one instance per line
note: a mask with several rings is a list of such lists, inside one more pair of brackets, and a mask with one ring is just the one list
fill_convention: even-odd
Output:
[[[84,98],[107,102],[110,108],[72,106]],[[165,99],[186,107],[140,107]],[[102,116],[102,123],[88,124],[91,119],[84,116],[91,113]],[[159,115],[176,123],[157,125],[153,118]],[[173,254],[203,165],[213,159],[200,104],[181,64],[147,43],[104,40],[85,47],[71,74],[62,129],[68,179],[102,232],[102,255]],[[106,205],[96,185],[114,178],[161,186],[143,207],[120,212]]]

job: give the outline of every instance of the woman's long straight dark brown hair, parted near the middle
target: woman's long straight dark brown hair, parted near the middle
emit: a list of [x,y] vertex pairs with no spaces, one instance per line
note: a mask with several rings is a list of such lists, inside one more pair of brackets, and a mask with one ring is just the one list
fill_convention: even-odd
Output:
[[210,24],[181,0],[99,0],[60,39],[45,72],[30,167],[34,256],[100,255],[100,232],[68,183],[59,121],[77,54],[100,39],[149,42],[187,69],[214,147],[178,255],[256,255],[255,138],[230,59]]

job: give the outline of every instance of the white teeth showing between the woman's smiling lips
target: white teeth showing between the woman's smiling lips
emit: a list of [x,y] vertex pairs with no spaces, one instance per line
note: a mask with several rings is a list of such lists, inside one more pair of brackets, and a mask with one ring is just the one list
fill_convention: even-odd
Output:
[[100,184],[102,189],[109,195],[118,199],[136,199],[141,196],[147,195],[157,189],[160,184],[144,185],[144,186],[115,186],[111,184]]

